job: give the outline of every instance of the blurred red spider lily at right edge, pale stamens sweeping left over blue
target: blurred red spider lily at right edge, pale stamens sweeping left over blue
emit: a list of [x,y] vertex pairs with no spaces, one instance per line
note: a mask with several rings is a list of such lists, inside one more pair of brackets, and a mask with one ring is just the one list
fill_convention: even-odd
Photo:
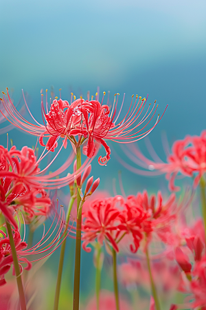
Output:
[[118,157],[118,159],[122,165],[137,174],[146,176],[166,174],[171,191],[179,190],[179,187],[174,185],[177,174],[181,173],[183,176],[190,177],[195,175],[194,187],[196,187],[201,176],[206,172],[206,131],[203,131],[201,136],[186,136],[183,140],[175,141],[172,145],[172,154],[169,154],[167,151],[167,163],[161,161],[151,146],[150,149],[155,161],[146,158],[137,147],[132,147],[130,151],[124,149],[124,152],[134,163],[145,169],[157,170],[154,172],[136,169],[124,163],[122,158]]

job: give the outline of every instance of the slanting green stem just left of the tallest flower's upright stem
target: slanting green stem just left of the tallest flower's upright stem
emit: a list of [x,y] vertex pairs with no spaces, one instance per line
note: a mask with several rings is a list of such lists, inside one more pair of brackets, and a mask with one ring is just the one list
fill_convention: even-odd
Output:
[[[71,208],[73,206],[75,198],[71,197],[69,200],[69,206],[67,209],[67,216],[66,216],[66,225],[68,227],[69,225],[69,216],[71,213]],[[63,239],[67,236],[67,230],[65,231],[65,234],[63,235]],[[58,310],[58,302],[59,302],[59,296],[60,296],[60,287],[61,287],[61,280],[62,280],[62,270],[64,265],[64,258],[65,258],[65,247],[66,247],[66,241],[67,238],[62,242],[61,245],[61,251],[60,251],[60,258],[58,263],[58,275],[56,280],[56,291],[55,291],[55,297],[54,297],[54,310]]]

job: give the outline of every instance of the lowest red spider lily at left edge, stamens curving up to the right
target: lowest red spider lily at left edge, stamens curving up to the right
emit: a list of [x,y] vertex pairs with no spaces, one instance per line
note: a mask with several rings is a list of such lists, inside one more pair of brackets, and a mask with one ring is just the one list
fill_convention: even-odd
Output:
[[[56,217],[57,220],[56,220]],[[20,225],[20,223],[19,223]],[[14,244],[16,247],[16,254],[17,258],[19,260],[19,267],[21,272],[23,269],[30,270],[32,268],[32,262],[35,262],[37,260],[41,260],[49,255],[51,255],[60,245],[62,244],[62,241],[67,238],[67,235],[65,235],[65,231],[67,230],[67,227],[65,227],[65,213],[63,208],[61,207],[60,214],[57,214],[57,208],[56,213],[54,215],[54,219],[52,221],[52,224],[50,225],[48,231],[45,233],[45,227],[43,231],[43,236],[41,240],[39,240],[36,245],[31,247],[30,249],[27,249],[27,243],[24,241],[25,239],[25,232],[23,240],[20,236],[21,227],[18,227],[17,230],[12,230],[13,238],[14,238]],[[25,225],[24,225],[24,231],[25,231]],[[69,231],[67,232],[69,234]],[[48,254],[46,254],[49,251]],[[43,254],[43,255],[42,255]],[[26,256],[38,256],[36,260],[27,260]],[[39,258],[39,255],[41,257]],[[21,264],[26,263],[27,265],[25,267],[22,267]],[[12,259],[12,251],[10,248],[10,240],[7,237],[7,234],[5,234],[4,231],[0,230],[0,286],[5,284],[5,273],[8,273],[10,270],[11,265],[13,265],[13,259]],[[13,274],[14,274],[14,268],[13,268]]]

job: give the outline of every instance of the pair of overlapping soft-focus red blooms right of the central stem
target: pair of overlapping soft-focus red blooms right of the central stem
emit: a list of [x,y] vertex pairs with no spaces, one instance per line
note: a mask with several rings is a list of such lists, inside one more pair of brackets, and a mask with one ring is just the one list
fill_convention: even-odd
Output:
[[157,203],[156,196],[148,198],[147,192],[126,199],[115,196],[94,200],[84,213],[82,247],[91,251],[87,245],[97,238],[100,244],[104,241],[119,251],[118,243],[124,236],[129,236],[133,240],[130,251],[135,253],[144,237],[146,242],[150,241],[152,231],[166,241],[164,234],[170,231],[172,220],[176,219],[175,211],[174,194],[163,203],[160,192],[157,194]]

